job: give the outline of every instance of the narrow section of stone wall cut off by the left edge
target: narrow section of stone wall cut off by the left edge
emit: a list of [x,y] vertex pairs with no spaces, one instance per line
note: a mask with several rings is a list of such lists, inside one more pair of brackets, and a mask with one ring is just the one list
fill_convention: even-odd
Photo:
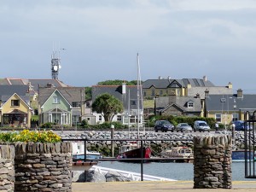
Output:
[[15,189],[15,147],[0,145],[0,192]]

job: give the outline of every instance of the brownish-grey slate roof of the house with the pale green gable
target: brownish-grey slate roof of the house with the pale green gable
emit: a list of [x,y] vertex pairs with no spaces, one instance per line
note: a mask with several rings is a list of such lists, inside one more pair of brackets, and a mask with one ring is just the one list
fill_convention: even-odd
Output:
[[82,100],[84,101],[84,89],[84,87],[40,87],[38,102],[42,106],[55,90],[58,90],[69,104],[81,102]]

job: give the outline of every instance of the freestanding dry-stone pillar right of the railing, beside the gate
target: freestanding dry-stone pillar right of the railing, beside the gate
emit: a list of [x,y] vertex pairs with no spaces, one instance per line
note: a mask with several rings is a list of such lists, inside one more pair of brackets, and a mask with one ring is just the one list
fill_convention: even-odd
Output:
[[230,136],[194,137],[194,188],[232,188]]

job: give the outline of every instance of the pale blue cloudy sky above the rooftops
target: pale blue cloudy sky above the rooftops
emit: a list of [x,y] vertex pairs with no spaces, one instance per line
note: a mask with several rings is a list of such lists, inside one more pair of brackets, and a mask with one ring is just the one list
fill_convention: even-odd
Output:
[[0,0],[0,79],[202,79],[256,94],[255,0]]

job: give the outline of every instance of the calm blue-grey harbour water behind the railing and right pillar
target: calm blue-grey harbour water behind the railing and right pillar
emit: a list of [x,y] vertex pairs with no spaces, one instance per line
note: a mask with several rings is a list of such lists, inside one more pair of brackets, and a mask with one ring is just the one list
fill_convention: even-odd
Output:
[[[119,169],[128,172],[140,172],[141,165],[137,163],[125,163],[119,161],[101,161],[97,166],[104,166],[112,169]],[[192,163],[156,163],[143,164],[144,174],[158,177],[172,178],[175,180],[193,180],[194,166]],[[244,177],[244,162],[232,162],[232,180],[248,181]]]

